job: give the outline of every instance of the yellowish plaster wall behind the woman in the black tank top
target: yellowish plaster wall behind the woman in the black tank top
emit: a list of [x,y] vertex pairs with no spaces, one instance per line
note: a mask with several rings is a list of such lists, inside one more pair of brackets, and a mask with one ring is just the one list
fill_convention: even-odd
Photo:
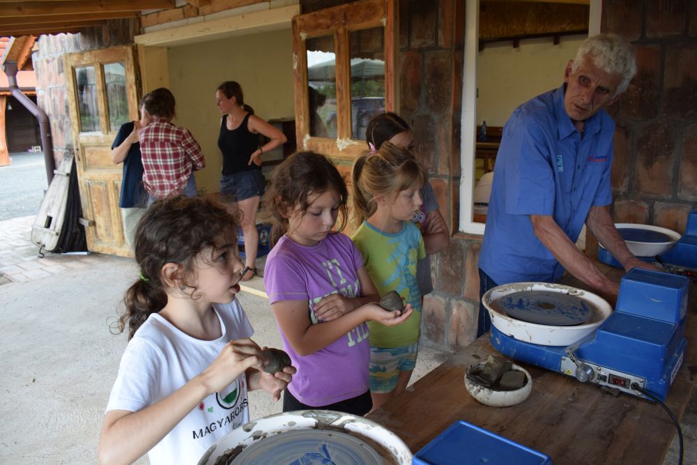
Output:
[[192,132],[206,157],[206,168],[196,174],[199,190],[220,190],[215,89],[221,82],[239,82],[245,103],[262,119],[293,117],[291,38],[291,29],[284,29],[168,49],[169,87],[177,102],[174,122]]

